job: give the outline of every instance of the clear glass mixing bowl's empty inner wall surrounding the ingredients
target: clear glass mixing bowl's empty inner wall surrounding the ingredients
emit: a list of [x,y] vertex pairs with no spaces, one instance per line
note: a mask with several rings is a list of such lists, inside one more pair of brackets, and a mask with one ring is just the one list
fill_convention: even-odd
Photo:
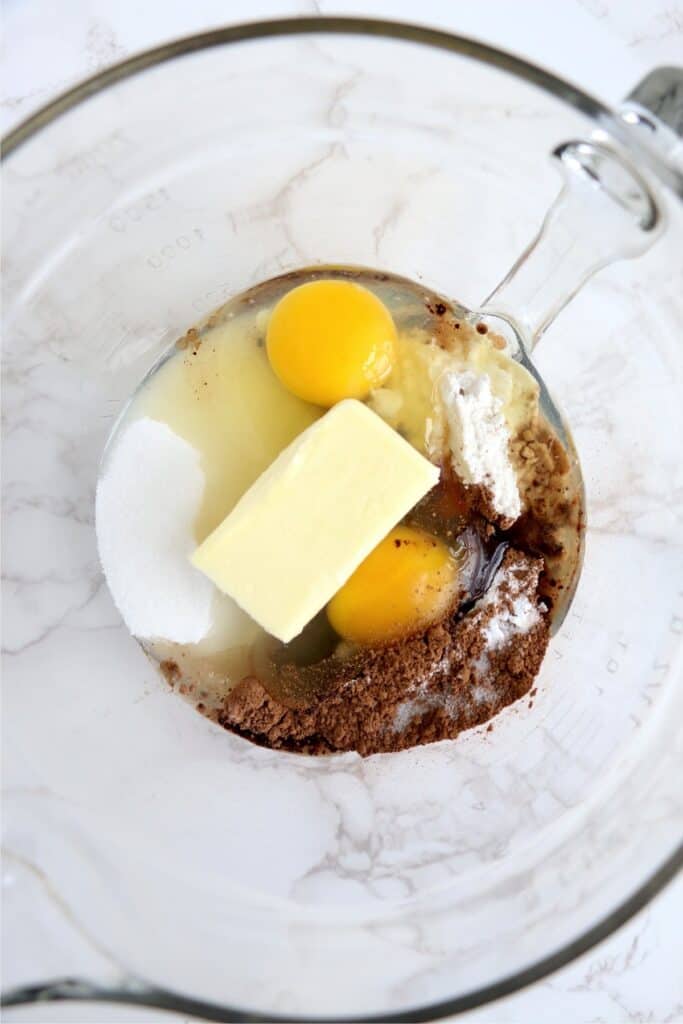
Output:
[[683,223],[667,185],[668,230],[538,349],[583,463],[585,567],[538,691],[493,731],[365,761],[221,731],[128,635],[93,529],[118,414],[202,314],[318,262],[476,306],[557,193],[548,154],[597,133],[650,174],[629,132],[485,46],[311,18],[135,57],[7,140],[5,922],[42,880],[101,953],[71,981],[25,957],[8,1001],[428,1019],[565,963],[680,865]]

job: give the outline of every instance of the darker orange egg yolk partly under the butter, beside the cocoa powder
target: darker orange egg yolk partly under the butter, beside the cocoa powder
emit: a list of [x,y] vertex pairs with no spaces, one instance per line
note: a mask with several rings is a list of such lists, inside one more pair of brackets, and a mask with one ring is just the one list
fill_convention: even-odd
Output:
[[456,556],[441,541],[396,526],[332,598],[328,618],[352,643],[387,643],[440,618],[457,584]]

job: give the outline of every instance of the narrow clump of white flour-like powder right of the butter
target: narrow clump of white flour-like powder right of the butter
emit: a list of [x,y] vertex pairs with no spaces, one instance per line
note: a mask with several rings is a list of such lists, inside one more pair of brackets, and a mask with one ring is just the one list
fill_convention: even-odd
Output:
[[488,375],[446,371],[438,387],[456,472],[465,483],[485,486],[499,515],[517,519],[521,501],[509,456],[510,431]]

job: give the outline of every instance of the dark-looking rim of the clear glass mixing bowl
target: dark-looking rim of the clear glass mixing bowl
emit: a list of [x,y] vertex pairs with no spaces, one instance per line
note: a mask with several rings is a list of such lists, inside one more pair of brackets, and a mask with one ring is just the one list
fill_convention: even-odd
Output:
[[[461,56],[470,57],[501,71],[508,72],[556,96],[575,110],[592,118],[607,130],[616,140],[626,145],[636,156],[642,156],[641,147],[630,135],[618,116],[599,99],[570,84],[551,72],[524,60],[505,50],[489,46],[466,36],[433,29],[427,26],[384,18],[355,16],[299,16],[240,23],[207,32],[170,40],[159,46],[143,50],[84,79],[71,89],[59,93],[54,99],[40,106],[34,114],[20,121],[0,140],[0,160],[6,163],[25,142],[36,136],[43,128],[52,124],[62,115],[74,110],[91,96],[103,92],[140,72],[165,63],[176,57],[201,52],[212,47],[252,42],[259,39],[273,39],[304,35],[356,35],[398,40],[431,46]],[[651,157],[651,155],[649,155]],[[423,1022],[462,1014],[485,1006],[506,995],[542,980],[560,968],[567,966],[630,921],[645,907],[683,869],[683,842],[671,853],[641,886],[631,893],[618,906],[601,921],[591,926],[583,934],[567,942],[559,949],[537,961],[529,967],[513,972],[507,977],[487,985],[479,986],[463,995],[439,999],[413,1009],[388,1014],[370,1014],[362,1017],[334,1018],[290,1017],[278,1014],[261,1014],[240,1007],[205,1002],[184,996],[170,989],[148,985],[143,979],[130,979],[128,984],[108,987],[86,979],[55,978],[33,985],[24,985],[7,990],[0,997],[0,1005],[13,1007],[45,1001],[104,1001],[145,1006],[168,1012],[189,1015],[210,1021],[230,1022],[313,1022],[336,1021],[339,1024],[351,1022]]]

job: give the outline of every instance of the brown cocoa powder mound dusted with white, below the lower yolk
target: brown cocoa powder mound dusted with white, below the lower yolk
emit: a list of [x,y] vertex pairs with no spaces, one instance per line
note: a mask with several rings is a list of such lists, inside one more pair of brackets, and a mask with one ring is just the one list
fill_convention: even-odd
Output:
[[[457,736],[531,687],[548,644],[537,598],[540,559],[508,550],[486,596],[463,617],[336,660],[327,688],[305,707],[275,699],[253,676],[225,698],[218,722],[242,735],[306,754],[369,755]],[[305,671],[305,670],[303,670]]]

